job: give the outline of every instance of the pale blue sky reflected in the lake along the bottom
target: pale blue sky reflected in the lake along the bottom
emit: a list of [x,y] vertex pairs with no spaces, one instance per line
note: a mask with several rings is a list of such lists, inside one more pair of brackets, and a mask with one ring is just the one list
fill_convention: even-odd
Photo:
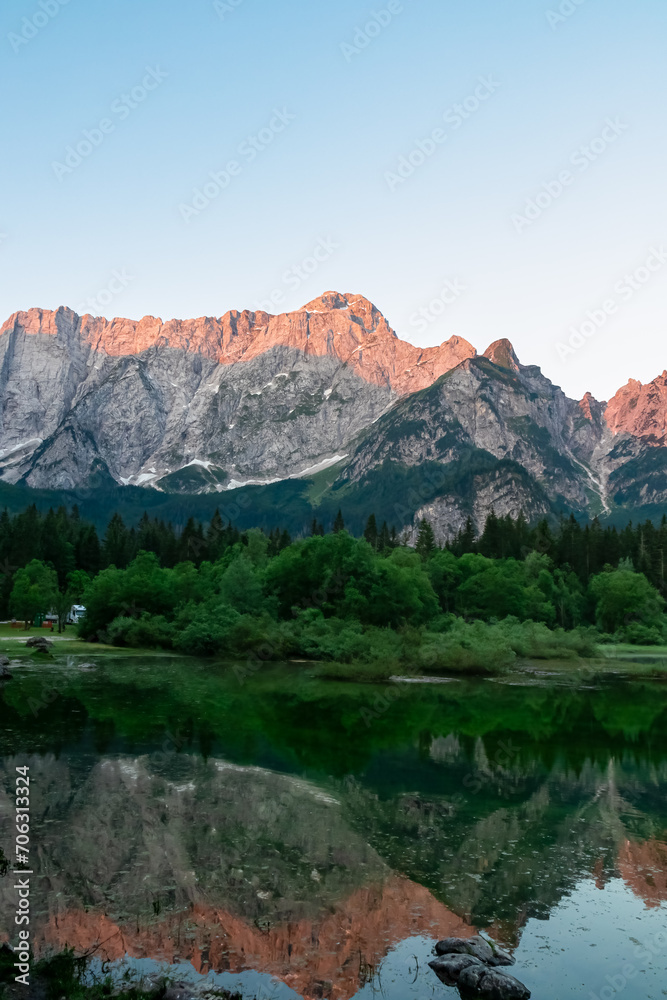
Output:
[[[666,906],[647,908],[620,879],[604,889],[587,879],[548,920],[528,920],[515,952],[516,965],[507,971],[529,987],[535,1000],[613,1000],[619,994],[624,1000],[660,1000],[667,995],[666,928]],[[649,946],[654,954],[647,961],[639,953]],[[431,939],[402,941],[354,1000],[458,1000],[458,992],[442,985],[429,968],[432,957]],[[627,978],[629,965],[636,973]],[[298,996],[280,980],[252,971],[201,976],[189,964],[165,966],[148,959],[126,959],[113,968],[115,974],[123,969],[144,975],[168,970],[183,982],[238,990],[248,1000]]]

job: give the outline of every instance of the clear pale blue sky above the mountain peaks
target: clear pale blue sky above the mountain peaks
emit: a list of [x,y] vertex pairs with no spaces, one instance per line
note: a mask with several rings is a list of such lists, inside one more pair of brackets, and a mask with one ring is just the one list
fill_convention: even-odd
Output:
[[[42,2],[0,11],[2,319],[91,299],[220,316],[274,291],[281,312],[337,289],[414,343],[509,337],[575,396],[667,368],[667,257],[617,285],[667,246],[664,0],[392,0],[390,19],[388,0]],[[448,279],[465,291],[445,305]],[[588,310],[599,329],[559,351]]]

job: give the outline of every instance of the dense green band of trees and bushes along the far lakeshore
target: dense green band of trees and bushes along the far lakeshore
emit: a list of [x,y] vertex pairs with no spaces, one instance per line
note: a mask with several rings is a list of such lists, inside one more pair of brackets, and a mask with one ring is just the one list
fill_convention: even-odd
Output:
[[86,606],[81,636],[256,659],[415,669],[500,669],[516,656],[592,655],[599,642],[663,642],[667,518],[623,531],[575,518],[472,522],[444,548],[414,546],[342,512],[307,538],[240,533],[216,513],[181,532],[114,515],[102,539],[75,508],[0,515],[3,618]]

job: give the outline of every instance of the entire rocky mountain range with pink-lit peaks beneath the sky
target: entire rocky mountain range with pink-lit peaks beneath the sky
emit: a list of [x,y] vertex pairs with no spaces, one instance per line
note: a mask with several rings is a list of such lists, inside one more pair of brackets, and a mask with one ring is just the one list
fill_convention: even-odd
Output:
[[492,508],[649,515],[667,500],[667,372],[573,400],[507,340],[418,348],[337,292],[166,323],[30,309],[0,328],[0,480],[259,501],[292,528],[338,507],[426,516],[440,539]]

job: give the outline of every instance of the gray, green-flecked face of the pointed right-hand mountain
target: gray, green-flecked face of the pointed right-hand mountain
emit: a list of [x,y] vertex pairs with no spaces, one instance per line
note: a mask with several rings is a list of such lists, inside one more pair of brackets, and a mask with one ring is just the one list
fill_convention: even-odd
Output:
[[[587,416],[539,368],[471,358],[396,402],[361,438],[344,477],[361,483],[387,462],[439,467],[410,490],[414,533],[426,517],[439,541],[468,517],[483,528],[492,508],[499,517],[523,510],[529,521],[563,508],[604,513],[619,442],[593,404]],[[667,479],[662,486],[667,496]]]

